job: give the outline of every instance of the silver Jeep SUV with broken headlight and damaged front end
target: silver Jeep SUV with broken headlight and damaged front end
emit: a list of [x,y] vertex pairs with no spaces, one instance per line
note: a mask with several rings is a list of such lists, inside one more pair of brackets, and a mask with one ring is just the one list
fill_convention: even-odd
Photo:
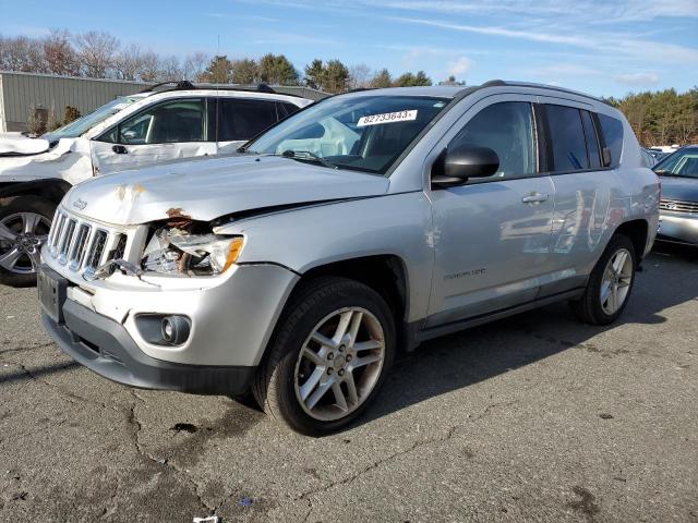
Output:
[[242,150],[73,187],[44,325],[107,378],[251,390],[304,434],[357,418],[398,348],[565,300],[614,321],[659,219],[622,113],[555,87],[334,96]]

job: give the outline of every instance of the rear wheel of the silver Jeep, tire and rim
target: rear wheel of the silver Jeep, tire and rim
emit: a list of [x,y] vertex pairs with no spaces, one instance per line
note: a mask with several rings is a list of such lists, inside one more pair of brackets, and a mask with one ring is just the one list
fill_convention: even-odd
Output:
[[582,321],[609,325],[621,316],[635,284],[635,247],[623,234],[616,234],[597,263],[580,300],[571,309]]

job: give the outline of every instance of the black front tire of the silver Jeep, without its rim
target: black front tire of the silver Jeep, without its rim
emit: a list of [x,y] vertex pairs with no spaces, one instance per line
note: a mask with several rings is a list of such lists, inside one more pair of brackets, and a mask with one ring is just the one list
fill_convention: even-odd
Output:
[[[252,392],[267,414],[285,422],[293,430],[309,436],[323,436],[352,423],[375,398],[395,358],[395,320],[383,297],[358,281],[322,277],[301,285],[279,318],[265,358],[253,380]],[[320,421],[308,414],[297,398],[296,362],[315,326],[342,307],[361,307],[378,320],[384,336],[383,366],[373,389],[353,412],[339,419]]]

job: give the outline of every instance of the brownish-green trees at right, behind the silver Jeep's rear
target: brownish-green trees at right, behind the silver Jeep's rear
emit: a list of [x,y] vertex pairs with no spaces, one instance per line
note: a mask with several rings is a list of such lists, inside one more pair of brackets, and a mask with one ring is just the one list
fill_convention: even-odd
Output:
[[646,147],[698,143],[698,86],[684,94],[665,89],[609,101],[623,111]]

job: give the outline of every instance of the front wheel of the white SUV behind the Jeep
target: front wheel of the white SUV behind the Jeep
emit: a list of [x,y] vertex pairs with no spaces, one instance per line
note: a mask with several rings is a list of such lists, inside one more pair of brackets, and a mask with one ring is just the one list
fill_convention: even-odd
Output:
[[20,196],[0,208],[0,283],[36,284],[35,265],[55,210],[53,203],[36,196]]

